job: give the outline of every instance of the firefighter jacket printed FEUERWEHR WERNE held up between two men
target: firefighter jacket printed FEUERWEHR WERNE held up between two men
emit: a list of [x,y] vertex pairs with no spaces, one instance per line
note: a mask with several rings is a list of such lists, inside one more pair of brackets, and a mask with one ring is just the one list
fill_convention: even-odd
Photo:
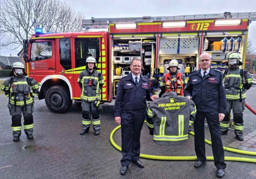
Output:
[[177,145],[188,139],[189,125],[195,121],[193,100],[167,92],[155,99],[147,109],[147,125],[154,131],[154,142]]

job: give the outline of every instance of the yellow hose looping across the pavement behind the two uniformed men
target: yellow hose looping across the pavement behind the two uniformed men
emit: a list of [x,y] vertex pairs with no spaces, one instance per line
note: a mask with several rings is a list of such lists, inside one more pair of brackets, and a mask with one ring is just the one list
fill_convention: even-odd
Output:
[[[146,122],[146,121],[144,121]],[[110,133],[110,142],[111,144],[119,151],[121,151],[121,147],[118,146],[115,141],[113,140],[113,135],[114,133],[121,128],[121,125],[117,126],[112,130]],[[194,135],[194,132],[189,132],[191,135]],[[209,145],[212,144],[211,141],[205,139],[205,142]],[[229,151],[229,152],[234,152],[234,153],[240,153],[240,154],[246,154],[246,155],[254,155],[256,156],[256,152],[251,152],[251,151],[245,151],[245,150],[238,150],[238,149],[233,149],[233,148],[228,148],[228,147],[223,147],[224,150]],[[147,154],[140,154],[141,158],[148,158],[148,159],[154,159],[154,160],[197,160],[196,156],[159,156],[159,155],[147,155]],[[214,160],[213,156],[207,156],[206,160]],[[225,157],[226,161],[239,161],[239,162],[252,162],[256,163],[256,159],[253,158],[244,158],[244,157]]]

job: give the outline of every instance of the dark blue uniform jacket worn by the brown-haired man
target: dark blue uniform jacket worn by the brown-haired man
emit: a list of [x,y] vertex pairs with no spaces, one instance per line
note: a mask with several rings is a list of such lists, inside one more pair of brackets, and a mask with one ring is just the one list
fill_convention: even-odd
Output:
[[123,77],[119,82],[116,94],[115,117],[121,116],[122,112],[133,113],[134,115],[145,113],[146,99],[150,100],[152,95],[149,80],[146,77],[140,75],[137,87],[131,73]]

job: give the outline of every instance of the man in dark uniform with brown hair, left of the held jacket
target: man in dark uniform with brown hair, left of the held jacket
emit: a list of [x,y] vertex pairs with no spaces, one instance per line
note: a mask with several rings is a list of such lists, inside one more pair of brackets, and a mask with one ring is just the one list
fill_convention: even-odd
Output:
[[141,67],[141,59],[131,60],[132,72],[120,80],[115,100],[115,121],[121,124],[122,136],[121,175],[127,172],[131,162],[140,168],[144,167],[139,155],[140,132],[146,117],[146,99],[158,98],[152,94],[149,80],[140,74]]

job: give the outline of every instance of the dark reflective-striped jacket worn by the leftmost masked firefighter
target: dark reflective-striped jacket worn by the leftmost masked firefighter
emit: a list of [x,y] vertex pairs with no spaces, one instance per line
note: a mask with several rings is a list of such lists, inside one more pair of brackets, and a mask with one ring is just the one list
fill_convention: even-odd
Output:
[[9,104],[14,106],[25,106],[32,104],[33,97],[37,95],[39,89],[38,83],[33,78],[25,75],[22,77],[12,76],[6,80],[1,90],[9,97]]

